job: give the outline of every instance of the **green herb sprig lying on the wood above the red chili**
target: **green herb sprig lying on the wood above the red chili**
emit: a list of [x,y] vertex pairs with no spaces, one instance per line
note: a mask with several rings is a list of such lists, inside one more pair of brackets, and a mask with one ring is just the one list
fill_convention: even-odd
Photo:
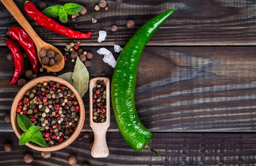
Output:
[[59,19],[65,23],[67,22],[67,14],[75,15],[77,12],[80,12],[82,8],[83,6],[77,3],[65,3],[63,6],[50,6],[45,10],[42,10],[42,13],[51,18],[59,17]]

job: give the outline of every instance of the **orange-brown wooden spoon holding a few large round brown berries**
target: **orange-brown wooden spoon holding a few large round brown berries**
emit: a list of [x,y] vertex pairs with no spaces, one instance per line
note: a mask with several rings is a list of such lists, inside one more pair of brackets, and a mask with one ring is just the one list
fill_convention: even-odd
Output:
[[42,64],[42,66],[44,66],[48,71],[51,71],[51,72],[61,71],[65,65],[64,57],[61,51],[58,50],[56,47],[52,46],[51,44],[47,44],[46,42],[42,41],[42,39],[38,37],[38,34],[35,33],[35,30],[33,30],[33,28],[31,27],[29,22],[26,20],[24,15],[22,15],[22,12],[20,12],[19,8],[17,8],[15,3],[13,2],[13,0],[1,0],[1,2],[3,3],[4,6],[6,6],[10,14],[12,14],[13,17],[15,17],[15,19],[22,26],[22,28],[24,28],[26,33],[29,34],[29,37],[31,37],[31,39],[33,40],[38,53],[41,49],[45,49],[45,50],[54,50],[56,54],[61,55],[60,61],[56,62],[56,64],[54,64],[53,66],[49,66],[49,65],[42,64],[41,62],[42,58],[38,54],[38,59]]

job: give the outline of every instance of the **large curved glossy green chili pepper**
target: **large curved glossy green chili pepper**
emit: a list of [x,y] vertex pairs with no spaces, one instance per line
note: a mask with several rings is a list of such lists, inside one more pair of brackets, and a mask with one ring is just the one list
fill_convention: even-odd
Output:
[[174,11],[167,10],[139,28],[120,53],[113,72],[111,101],[115,121],[125,141],[136,151],[144,149],[152,141],[152,133],[138,119],[135,108],[138,62],[147,42]]

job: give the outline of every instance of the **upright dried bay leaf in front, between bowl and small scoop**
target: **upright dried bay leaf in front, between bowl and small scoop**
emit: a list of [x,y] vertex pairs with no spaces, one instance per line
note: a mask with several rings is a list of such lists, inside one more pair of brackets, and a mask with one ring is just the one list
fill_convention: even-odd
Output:
[[89,86],[89,73],[86,66],[81,62],[80,58],[77,58],[76,65],[74,65],[74,71],[72,73],[72,85],[79,92],[81,97],[88,91]]

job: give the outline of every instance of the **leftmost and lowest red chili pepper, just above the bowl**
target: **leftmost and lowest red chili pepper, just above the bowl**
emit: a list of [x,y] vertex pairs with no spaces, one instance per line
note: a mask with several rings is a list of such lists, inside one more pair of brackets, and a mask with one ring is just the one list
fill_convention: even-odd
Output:
[[10,84],[15,84],[15,82],[19,80],[19,77],[22,75],[22,71],[23,71],[24,59],[22,55],[22,50],[20,49],[17,42],[15,42],[13,39],[7,39],[6,45],[10,49],[10,52],[13,54],[14,65],[15,65],[13,80],[10,82]]

